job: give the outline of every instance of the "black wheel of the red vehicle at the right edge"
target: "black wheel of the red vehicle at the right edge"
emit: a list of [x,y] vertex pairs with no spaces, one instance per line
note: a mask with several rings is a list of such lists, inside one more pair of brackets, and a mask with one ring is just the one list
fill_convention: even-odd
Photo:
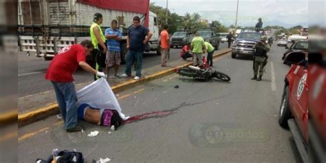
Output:
[[281,100],[281,106],[279,110],[279,124],[281,127],[287,129],[287,120],[291,118],[291,111],[289,105],[289,88],[287,86],[283,89],[283,95]]

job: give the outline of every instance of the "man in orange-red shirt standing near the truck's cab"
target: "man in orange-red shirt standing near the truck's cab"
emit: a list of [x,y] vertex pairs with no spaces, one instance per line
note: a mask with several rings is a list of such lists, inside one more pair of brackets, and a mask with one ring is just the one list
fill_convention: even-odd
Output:
[[164,25],[164,30],[162,30],[161,32],[162,67],[166,67],[166,56],[168,55],[169,48],[170,48],[170,36],[169,36],[168,28],[169,28],[168,25]]

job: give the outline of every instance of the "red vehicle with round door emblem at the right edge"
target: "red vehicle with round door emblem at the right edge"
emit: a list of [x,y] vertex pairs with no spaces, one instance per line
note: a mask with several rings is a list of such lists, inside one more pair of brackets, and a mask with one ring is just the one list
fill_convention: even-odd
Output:
[[[325,162],[326,67],[310,64],[309,57],[308,69],[307,53],[303,52],[292,52],[286,60],[292,66],[285,76],[279,124],[286,129],[290,128],[303,162],[308,162],[308,149],[309,162],[312,158],[317,162]],[[308,83],[312,91],[309,91]]]

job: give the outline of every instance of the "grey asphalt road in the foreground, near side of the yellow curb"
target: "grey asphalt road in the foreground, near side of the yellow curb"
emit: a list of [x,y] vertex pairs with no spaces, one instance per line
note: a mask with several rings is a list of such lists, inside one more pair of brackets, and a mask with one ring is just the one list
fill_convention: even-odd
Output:
[[[283,52],[272,47],[259,82],[250,80],[252,61],[225,55],[215,69],[230,83],[172,74],[116,94],[122,112],[138,116],[117,131],[80,122],[83,133],[66,133],[55,116],[21,127],[19,162],[45,159],[56,148],[76,149],[87,162],[301,162],[290,131],[278,124],[289,69]],[[87,137],[95,130],[97,137]]]

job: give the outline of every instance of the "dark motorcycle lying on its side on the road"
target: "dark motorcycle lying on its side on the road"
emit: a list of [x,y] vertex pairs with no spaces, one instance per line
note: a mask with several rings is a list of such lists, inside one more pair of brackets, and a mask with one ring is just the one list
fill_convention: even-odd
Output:
[[199,68],[192,65],[188,66],[188,68],[177,69],[176,72],[177,74],[180,74],[180,76],[188,76],[206,81],[210,80],[210,78],[217,78],[225,82],[231,80],[230,76],[222,72],[217,72],[211,68]]

